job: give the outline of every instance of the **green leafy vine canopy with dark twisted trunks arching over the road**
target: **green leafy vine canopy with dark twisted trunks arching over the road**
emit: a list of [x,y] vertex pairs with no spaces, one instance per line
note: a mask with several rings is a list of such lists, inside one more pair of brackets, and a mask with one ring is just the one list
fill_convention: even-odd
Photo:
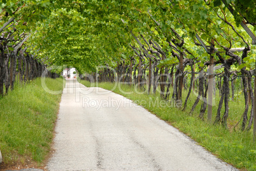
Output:
[[[52,67],[60,72],[73,66],[87,73],[85,79],[90,74],[98,81],[118,80],[147,93],[160,87],[162,99],[180,100],[190,113],[201,104],[203,120],[207,107],[211,119],[211,94],[218,89],[214,121],[227,127],[229,100],[240,85],[241,129],[253,125],[255,0],[2,0],[0,5],[0,95],[17,75],[27,80],[46,67],[62,66]],[[196,101],[187,109],[195,90]]]

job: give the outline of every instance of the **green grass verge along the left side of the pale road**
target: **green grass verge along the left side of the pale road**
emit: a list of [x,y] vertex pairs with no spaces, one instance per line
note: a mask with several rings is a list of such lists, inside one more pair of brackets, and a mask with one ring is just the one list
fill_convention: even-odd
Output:
[[[63,79],[45,79],[53,91],[63,90]],[[47,93],[41,78],[15,84],[0,99],[0,149],[4,164],[33,160],[40,164],[50,151],[61,94]]]

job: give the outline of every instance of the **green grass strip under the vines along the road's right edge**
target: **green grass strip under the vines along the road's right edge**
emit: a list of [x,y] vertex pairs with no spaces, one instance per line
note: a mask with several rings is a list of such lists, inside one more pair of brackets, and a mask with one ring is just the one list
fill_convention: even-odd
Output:
[[[80,82],[85,86],[96,86],[95,83],[91,84],[88,81],[81,80]],[[252,130],[250,132],[241,132],[239,127],[236,131],[233,130],[234,125],[236,125],[241,118],[241,114],[243,114],[245,108],[243,97],[238,97],[236,100],[229,102],[230,114],[227,122],[229,129],[225,129],[221,125],[213,125],[212,123],[202,121],[198,118],[202,102],[199,102],[193,115],[190,116],[190,109],[196,100],[196,95],[194,95],[194,93],[190,95],[187,110],[183,112],[177,107],[167,107],[167,105],[164,105],[166,102],[164,100],[161,101],[159,94],[148,95],[142,93],[139,95],[138,93],[135,93],[134,86],[120,85],[122,91],[118,86],[117,88],[113,88],[115,86],[113,83],[99,83],[98,86],[124,95],[128,99],[145,107],[162,120],[167,121],[181,132],[186,133],[201,146],[208,149],[208,151],[211,151],[215,156],[218,156],[218,158],[234,165],[234,167],[244,170],[256,170],[256,146],[255,142],[253,142]],[[125,92],[131,92],[131,94]],[[184,91],[184,100],[186,96],[187,92]],[[157,105],[153,106],[152,102],[155,102],[156,100],[162,102],[162,107]],[[215,114],[217,113],[218,101],[219,97],[217,92],[217,105],[213,106],[213,121],[215,120]],[[224,107],[221,114],[223,113]],[[241,124],[239,124],[239,126],[240,125]]]

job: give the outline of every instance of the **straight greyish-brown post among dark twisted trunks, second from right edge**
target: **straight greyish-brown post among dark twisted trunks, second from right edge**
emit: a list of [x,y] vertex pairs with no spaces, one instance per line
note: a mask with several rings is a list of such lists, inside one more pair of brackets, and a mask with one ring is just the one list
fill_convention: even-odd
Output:
[[210,55],[209,81],[208,81],[208,121],[211,122],[213,110],[213,55]]

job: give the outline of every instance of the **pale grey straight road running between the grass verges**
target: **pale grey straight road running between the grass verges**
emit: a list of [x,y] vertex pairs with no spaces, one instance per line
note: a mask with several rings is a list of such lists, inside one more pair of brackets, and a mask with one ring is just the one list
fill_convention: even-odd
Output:
[[48,170],[236,170],[131,100],[67,81]]

